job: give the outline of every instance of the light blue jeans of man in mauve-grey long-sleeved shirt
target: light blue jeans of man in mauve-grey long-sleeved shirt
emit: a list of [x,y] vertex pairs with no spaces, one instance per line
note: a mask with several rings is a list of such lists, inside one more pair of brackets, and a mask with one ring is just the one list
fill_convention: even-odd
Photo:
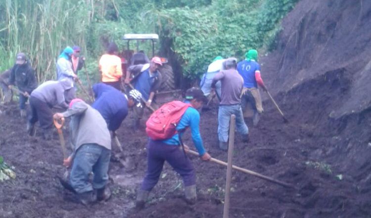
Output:
[[249,133],[249,129],[243,120],[240,105],[221,105],[218,112],[218,138],[220,142],[228,142],[228,131],[230,129],[231,115],[236,116],[236,130],[242,135]]

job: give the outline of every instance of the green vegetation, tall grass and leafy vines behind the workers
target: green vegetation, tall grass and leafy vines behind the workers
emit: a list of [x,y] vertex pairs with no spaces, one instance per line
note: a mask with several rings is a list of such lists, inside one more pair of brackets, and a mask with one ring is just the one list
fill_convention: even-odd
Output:
[[156,49],[175,53],[184,75],[194,78],[217,55],[242,58],[251,48],[274,48],[279,22],[297,1],[3,0],[0,70],[22,51],[42,82],[54,77],[60,51],[79,45],[95,77],[110,41],[124,49],[125,33],[158,33]]

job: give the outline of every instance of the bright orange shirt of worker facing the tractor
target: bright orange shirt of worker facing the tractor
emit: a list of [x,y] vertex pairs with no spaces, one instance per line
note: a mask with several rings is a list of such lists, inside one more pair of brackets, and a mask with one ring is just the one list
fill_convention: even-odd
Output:
[[99,59],[102,82],[116,82],[122,76],[121,59],[113,54],[103,54]]

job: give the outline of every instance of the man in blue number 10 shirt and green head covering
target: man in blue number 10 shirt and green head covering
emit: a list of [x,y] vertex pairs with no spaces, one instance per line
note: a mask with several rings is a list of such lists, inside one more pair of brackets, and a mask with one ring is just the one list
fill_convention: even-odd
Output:
[[237,71],[243,78],[243,91],[242,91],[242,110],[245,111],[246,104],[249,101],[250,94],[254,98],[255,110],[253,116],[254,126],[259,122],[259,116],[263,112],[262,99],[258,90],[258,85],[267,91],[263,79],[260,75],[260,65],[258,61],[258,52],[256,50],[249,50],[245,54],[246,59],[241,60],[237,64]]

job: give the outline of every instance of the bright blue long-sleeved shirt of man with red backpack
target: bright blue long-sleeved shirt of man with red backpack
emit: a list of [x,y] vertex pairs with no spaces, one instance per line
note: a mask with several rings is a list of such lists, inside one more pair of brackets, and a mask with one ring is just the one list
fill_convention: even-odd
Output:
[[[189,103],[189,102],[185,101],[185,103]],[[200,114],[198,113],[196,109],[189,107],[188,109],[185,110],[185,113],[183,114],[181,120],[179,121],[176,129],[177,131],[179,131],[179,130],[185,129],[188,126],[190,127],[192,141],[194,143],[194,146],[196,147],[199,155],[202,156],[206,153],[206,151],[202,145],[202,138],[200,134],[199,125],[200,125]],[[183,134],[183,132],[181,134]],[[168,145],[180,145],[179,133],[175,134],[170,139],[165,139],[161,141]]]

